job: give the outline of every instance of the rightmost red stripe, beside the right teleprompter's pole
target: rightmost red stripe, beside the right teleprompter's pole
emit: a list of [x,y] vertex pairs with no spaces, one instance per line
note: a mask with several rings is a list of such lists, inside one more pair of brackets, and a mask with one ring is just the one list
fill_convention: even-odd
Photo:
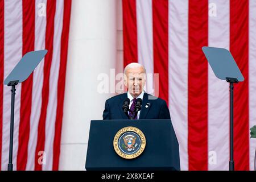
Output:
[[230,52],[245,81],[234,85],[234,163],[249,170],[249,2],[230,1]]

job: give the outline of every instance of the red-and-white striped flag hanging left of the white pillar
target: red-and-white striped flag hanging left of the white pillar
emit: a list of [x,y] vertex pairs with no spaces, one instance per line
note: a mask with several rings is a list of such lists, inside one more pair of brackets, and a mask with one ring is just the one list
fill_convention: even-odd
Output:
[[22,56],[48,49],[16,86],[14,170],[59,168],[71,0],[0,0],[0,162],[9,159],[10,88],[3,85]]

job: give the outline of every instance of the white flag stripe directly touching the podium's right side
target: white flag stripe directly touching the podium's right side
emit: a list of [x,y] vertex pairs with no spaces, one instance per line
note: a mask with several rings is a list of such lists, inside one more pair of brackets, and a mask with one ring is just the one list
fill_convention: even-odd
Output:
[[169,106],[180,168],[188,170],[188,1],[169,1],[168,7]]

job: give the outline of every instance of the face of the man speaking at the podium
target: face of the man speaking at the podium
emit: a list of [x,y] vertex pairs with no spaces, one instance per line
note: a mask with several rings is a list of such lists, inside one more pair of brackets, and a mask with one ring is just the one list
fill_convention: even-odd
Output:
[[146,83],[144,69],[142,67],[127,69],[124,81],[131,96],[138,97]]

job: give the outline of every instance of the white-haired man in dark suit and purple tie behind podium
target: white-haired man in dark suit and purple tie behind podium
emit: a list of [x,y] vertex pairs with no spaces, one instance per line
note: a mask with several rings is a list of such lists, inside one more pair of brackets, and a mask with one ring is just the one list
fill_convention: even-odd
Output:
[[[166,101],[144,92],[145,83],[145,68],[138,63],[127,65],[124,71],[124,84],[128,91],[106,100],[103,119],[129,119],[122,108],[123,102],[127,98],[130,99],[131,111],[133,111],[137,99],[142,99],[141,111],[138,112],[135,119],[171,119]],[[129,115],[131,115],[130,112]]]

